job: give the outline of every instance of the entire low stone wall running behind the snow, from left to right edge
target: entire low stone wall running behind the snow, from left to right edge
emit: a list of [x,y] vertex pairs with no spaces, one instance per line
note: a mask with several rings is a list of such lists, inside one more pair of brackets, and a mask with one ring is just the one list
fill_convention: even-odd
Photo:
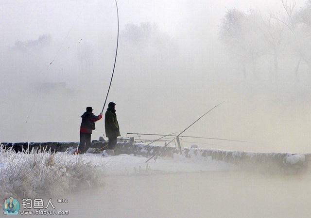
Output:
[[[55,152],[65,152],[69,147],[76,148],[78,142],[17,142],[17,143],[1,143],[5,148],[13,148],[16,152],[23,150],[50,150]],[[93,140],[92,148],[103,148],[107,142]],[[107,149],[105,147],[102,150]],[[180,154],[175,147],[163,145],[146,145],[144,143],[135,143],[128,141],[118,141],[115,147],[115,155],[128,154],[135,156],[151,157],[161,156],[173,158],[174,155]],[[217,149],[198,149],[184,148],[182,154],[186,158],[194,159],[212,159],[217,161],[225,161],[230,164],[239,166],[246,170],[257,170],[266,172],[283,172],[297,173],[306,171],[311,154],[290,154],[290,153],[258,153],[258,152],[242,152],[242,151],[225,151]]]

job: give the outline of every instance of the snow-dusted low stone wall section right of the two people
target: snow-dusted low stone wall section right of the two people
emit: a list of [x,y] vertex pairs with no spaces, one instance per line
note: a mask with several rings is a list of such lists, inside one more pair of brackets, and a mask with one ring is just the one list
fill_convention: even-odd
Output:
[[[141,156],[173,157],[179,154],[175,147],[146,145],[144,143],[118,143],[116,153]],[[259,153],[244,151],[227,151],[218,149],[184,148],[182,154],[191,159],[211,158],[224,161],[244,170],[271,173],[297,173],[308,168],[311,154]]]

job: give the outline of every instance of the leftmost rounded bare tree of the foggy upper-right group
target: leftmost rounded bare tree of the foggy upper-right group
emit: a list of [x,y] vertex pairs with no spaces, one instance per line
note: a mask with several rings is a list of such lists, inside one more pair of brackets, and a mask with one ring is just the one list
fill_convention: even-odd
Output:
[[222,19],[220,39],[227,47],[229,54],[242,63],[243,77],[246,78],[246,65],[250,63],[254,78],[257,78],[257,62],[265,53],[262,19],[260,13],[250,10],[248,13],[238,9],[228,9]]

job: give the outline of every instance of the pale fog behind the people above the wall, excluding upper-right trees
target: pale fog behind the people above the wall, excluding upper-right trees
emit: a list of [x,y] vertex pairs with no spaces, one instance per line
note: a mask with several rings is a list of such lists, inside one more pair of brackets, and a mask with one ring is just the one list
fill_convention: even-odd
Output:
[[[115,2],[0,5],[0,141],[78,141],[80,116],[87,106],[99,114],[107,93],[117,40]],[[259,56],[256,76],[245,61],[244,76],[230,47],[238,43],[220,36],[228,10],[282,17],[281,0],[120,0],[118,6],[119,50],[107,101],[117,104],[123,137],[182,131],[225,101],[185,135],[252,143],[191,139],[186,146],[310,152],[310,68],[302,60],[295,76],[297,52],[303,50],[291,44],[291,31],[284,27],[288,41],[279,52],[277,78],[270,50]],[[306,1],[297,0],[294,12],[304,7]],[[301,42],[310,47],[310,36]],[[103,134],[101,120],[92,139]]]

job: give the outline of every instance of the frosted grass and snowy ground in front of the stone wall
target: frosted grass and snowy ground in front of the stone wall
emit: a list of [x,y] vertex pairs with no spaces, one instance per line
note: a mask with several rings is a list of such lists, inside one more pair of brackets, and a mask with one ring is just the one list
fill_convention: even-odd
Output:
[[[0,194],[59,194],[74,191],[81,184],[102,184],[104,176],[159,174],[177,172],[227,171],[231,164],[206,158],[154,158],[144,156],[102,154],[72,155],[69,152],[15,153],[0,149]],[[12,173],[12,169],[14,172]],[[62,188],[60,188],[62,187]],[[1,193],[2,192],[2,193]]]

